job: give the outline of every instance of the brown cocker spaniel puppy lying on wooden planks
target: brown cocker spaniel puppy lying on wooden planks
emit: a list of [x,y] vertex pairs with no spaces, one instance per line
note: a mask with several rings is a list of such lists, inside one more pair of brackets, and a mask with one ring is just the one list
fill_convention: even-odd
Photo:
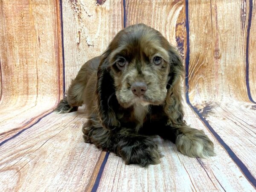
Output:
[[157,30],[137,24],[121,30],[107,50],[80,69],[56,111],[86,105],[87,143],[126,164],[157,164],[154,135],[171,140],[189,157],[215,155],[213,143],[183,120],[180,55]]

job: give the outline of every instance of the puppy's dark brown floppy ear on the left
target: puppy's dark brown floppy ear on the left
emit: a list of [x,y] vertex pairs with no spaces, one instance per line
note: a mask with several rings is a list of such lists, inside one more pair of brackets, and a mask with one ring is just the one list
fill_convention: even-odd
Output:
[[118,111],[119,103],[116,99],[114,81],[111,77],[111,68],[108,61],[108,51],[102,55],[102,61],[97,71],[96,95],[98,101],[98,115],[102,126],[108,129],[120,127],[114,111]]

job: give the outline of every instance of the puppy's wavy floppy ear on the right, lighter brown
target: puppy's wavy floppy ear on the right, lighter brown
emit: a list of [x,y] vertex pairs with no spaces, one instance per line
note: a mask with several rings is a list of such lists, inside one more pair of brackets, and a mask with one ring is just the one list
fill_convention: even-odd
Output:
[[182,79],[184,77],[183,60],[171,45],[168,48],[170,73],[167,85],[166,106],[164,110],[169,117],[169,124],[184,124],[182,105]]

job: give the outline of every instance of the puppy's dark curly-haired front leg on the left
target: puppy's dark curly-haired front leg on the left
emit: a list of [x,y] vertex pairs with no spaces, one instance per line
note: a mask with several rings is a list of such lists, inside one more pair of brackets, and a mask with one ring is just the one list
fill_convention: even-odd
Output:
[[[94,125],[93,125],[94,124]],[[161,154],[157,144],[151,137],[134,134],[127,128],[119,131],[110,131],[90,119],[83,127],[84,140],[94,143],[97,148],[114,152],[122,157],[126,164],[148,164],[160,163]]]

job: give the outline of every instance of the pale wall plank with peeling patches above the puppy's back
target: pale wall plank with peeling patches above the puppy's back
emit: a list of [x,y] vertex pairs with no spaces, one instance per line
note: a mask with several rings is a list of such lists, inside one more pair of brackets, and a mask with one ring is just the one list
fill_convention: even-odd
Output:
[[122,0],[63,0],[66,90],[81,66],[107,49],[122,29]]

